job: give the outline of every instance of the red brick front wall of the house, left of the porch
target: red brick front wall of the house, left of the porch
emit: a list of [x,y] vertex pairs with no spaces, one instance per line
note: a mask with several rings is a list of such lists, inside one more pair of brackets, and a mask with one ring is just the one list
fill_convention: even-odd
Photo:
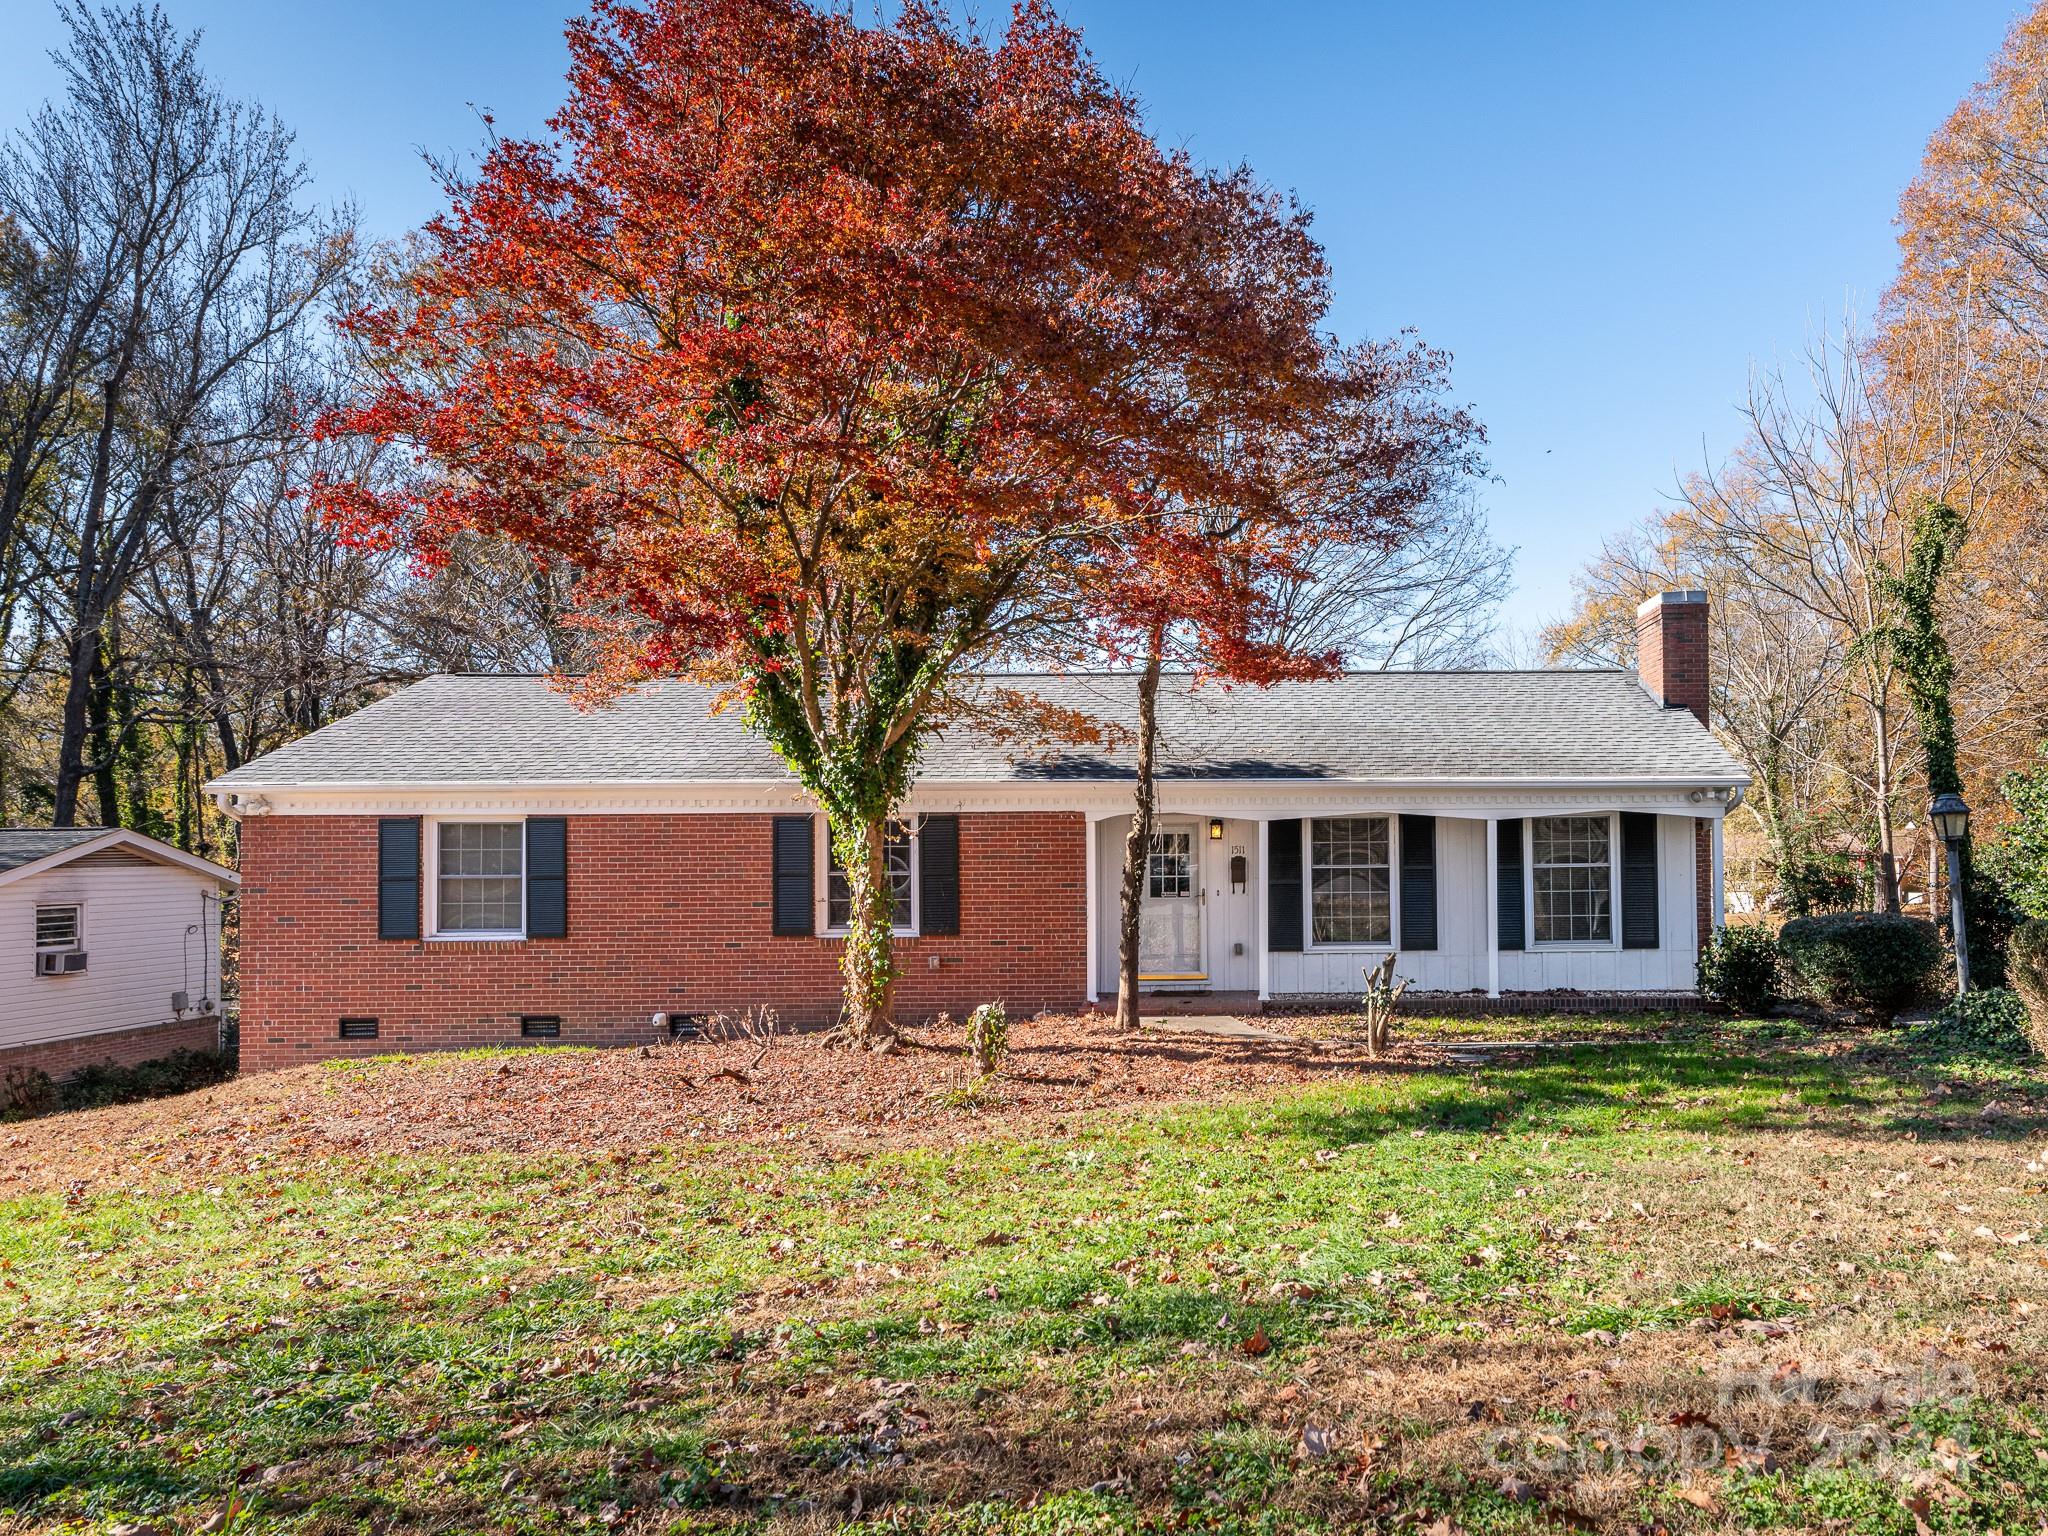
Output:
[[[840,1010],[840,944],[770,930],[768,815],[569,821],[569,936],[379,940],[375,817],[242,823],[242,1067],[520,1044],[522,1014],[559,1044],[641,1044],[655,1012]],[[1087,983],[1085,821],[961,817],[961,932],[897,940],[897,1016],[1075,1010]],[[342,1040],[375,1018],[375,1040]]]

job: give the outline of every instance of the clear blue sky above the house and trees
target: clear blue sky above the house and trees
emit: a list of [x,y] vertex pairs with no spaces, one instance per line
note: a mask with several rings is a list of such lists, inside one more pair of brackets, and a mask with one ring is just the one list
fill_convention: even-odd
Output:
[[[537,129],[567,0],[166,0],[377,233],[475,109]],[[1317,211],[1348,336],[1415,326],[1491,434],[1507,623],[1733,444],[1751,365],[1868,313],[1898,190],[2015,0],[1067,0],[1153,131]],[[51,90],[45,0],[0,0],[0,125]],[[983,14],[1001,6],[983,4]]]

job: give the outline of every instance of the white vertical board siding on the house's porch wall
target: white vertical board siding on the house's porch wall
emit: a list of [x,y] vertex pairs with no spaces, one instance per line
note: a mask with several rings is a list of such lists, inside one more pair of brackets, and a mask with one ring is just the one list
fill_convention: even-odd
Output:
[[[1122,881],[1126,817],[1098,821],[1096,844],[1096,989],[1116,995],[1116,911]],[[1206,842],[1206,840],[1204,840]],[[1264,938],[1262,903],[1266,874],[1257,866],[1257,823],[1225,821],[1225,840],[1210,844],[1219,854],[1231,848],[1251,852],[1249,891],[1223,883],[1225,858],[1204,860],[1202,883],[1208,985],[1214,991],[1257,987],[1257,944]],[[1618,850],[1616,850],[1618,856]],[[1477,817],[1436,819],[1436,938],[1434,950],[1399,950],[1395,975],[1413,991],[1485,991],[1487,967],[1487,823]],[[1524,874],[1524,881],[1528,874]],[[1501,991],[1673,991],[1690,993],[1698,969],[1698,889],[1694,872],[1694,819],[1657,817],[1657,924],[1655,950],[1602,946],[1536,946],[1501,950]],[[1253,903],[1260,903],[1255,907]],[[1616,913],[1616,924],[1620,913]],[[1241,952],[1239,952],[1241,946]],[[1384,946],[1309,944],[1298,952],[1268,956],[1272,997],[1356,995],[1364,971],[1386,954]]]

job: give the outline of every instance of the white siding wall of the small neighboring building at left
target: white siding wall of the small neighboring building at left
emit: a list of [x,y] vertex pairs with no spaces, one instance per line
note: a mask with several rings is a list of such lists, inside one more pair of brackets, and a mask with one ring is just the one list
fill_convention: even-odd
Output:
[[[35,969],[35,909],[80,909],[86,969]],[[219,883],[106,848],[0,885],[0,1051],[168,1024],[174,991],[219,997]]]

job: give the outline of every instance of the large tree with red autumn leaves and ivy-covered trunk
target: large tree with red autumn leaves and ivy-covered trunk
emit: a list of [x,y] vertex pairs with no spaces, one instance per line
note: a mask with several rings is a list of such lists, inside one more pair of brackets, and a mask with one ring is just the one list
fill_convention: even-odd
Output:
[[725,684],[827,813],[852,905],[846,1030],[887,1042],[885,840],[977,666],[1190,621],[1245,680],[1307,541],[1384,537],[1468,434],[1442,358],[1339,350],[1307,215],[1163,152],[1075,31],[907,4],[598,0],[551,141],[449,182],[381,383],[328,434],[412,455],[330,481],[356,541],[463,532],[580,573],[592,702]]

